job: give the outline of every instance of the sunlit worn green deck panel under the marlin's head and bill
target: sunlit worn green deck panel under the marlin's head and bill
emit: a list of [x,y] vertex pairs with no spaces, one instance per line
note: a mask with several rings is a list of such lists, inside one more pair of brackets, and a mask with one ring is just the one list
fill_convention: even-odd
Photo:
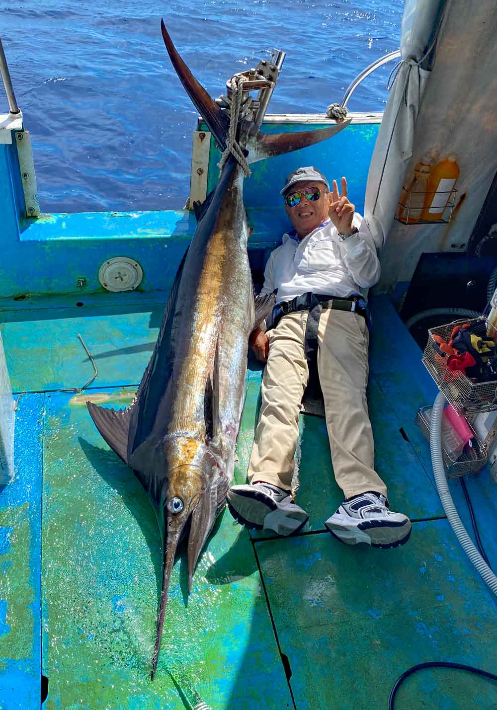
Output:
[[[126,406],[133,389],[108,393]],[[127,400],[126,400],[127,395]],[[46,395],[43,458],[43,669],[47,708],[180,708],[176,680],[212,708],[291,706],[246,530],[217,524],[187,598],[178,559],[155,680],[160,536],[132,471],[109,450],[84,398]],[[185,550],[183,550],[185,552]]]

